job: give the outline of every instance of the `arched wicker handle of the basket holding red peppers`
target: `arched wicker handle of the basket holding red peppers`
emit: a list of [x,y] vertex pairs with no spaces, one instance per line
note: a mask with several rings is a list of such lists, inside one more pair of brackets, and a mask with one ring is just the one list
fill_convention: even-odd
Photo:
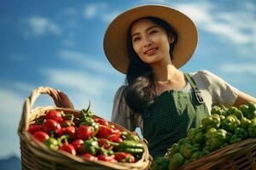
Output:
[[30,111],[32,110],[32,106],[41,94],[49,94],[49,96],[54,100],[57,107],[67,107],[66,105],[62,104],[61,97],[54,88],[39,87],[34,89],[32,91],[32,94],[24,102],[18,133],[22,133],[22,131],[26,129],[26,126],[28,126],[28,116],[30,114]]

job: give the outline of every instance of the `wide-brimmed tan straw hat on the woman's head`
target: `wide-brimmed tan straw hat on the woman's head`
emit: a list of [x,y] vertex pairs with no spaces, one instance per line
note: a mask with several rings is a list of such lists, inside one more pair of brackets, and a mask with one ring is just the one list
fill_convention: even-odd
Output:
[[197,45],[197,29],[192,20],[175,8],[163,5],[143,5],[119,14],[108,26],[104,36],[104,52],[113,67],[126,73],[129,65],[127,32],[135,20],[143,17],[165,20],[177,31],[177,44],[173,51],[172,64],[177,68],[192,56]]

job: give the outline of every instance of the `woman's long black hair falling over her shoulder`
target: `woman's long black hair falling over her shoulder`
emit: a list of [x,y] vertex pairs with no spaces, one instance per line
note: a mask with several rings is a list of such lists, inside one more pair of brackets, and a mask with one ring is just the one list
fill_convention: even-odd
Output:
[[[154,17],[145,17],[143,19],[154,22],[157,26],[161,26],[168,36],[174,37],[174,42],[170,44],[170,56],[173,58],[173,49],[177,43],[177,32],[168,25],[166,21]],[[132,48],[131,26],[128,31],[128,52],[130,63],[126,71],[126,86],[122,96],[125,97],[126,104],[132,111],[143,113],[143,110],[154,102],[156,98],[156,90],[154,85],[154,73],[150,65],[140,59]]]

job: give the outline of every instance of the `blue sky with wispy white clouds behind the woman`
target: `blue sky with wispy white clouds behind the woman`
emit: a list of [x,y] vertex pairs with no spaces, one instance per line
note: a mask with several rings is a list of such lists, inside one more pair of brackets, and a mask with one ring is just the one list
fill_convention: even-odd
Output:
[[[102,40],[116,14],[145,3],[178,8],[195,21],[199,43],[181,70],[212,71],[256,97],[255,1],[2,0],[0,6],[0,158],[20,155],[17,127],[32,89],[50,86],[68,94],[76,109],[91,102],[110,119],[113,95],[125,76],[108,63]],[[37,106],[53,105],[42,95]]]

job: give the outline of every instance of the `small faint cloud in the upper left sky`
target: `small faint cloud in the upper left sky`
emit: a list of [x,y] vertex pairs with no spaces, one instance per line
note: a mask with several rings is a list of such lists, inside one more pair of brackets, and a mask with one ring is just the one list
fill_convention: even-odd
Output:
[[61,35],[61,27],[52,20],[42,16],[31,16],[26,21],[28,31],[26,36],[39,37],[45,34]]

